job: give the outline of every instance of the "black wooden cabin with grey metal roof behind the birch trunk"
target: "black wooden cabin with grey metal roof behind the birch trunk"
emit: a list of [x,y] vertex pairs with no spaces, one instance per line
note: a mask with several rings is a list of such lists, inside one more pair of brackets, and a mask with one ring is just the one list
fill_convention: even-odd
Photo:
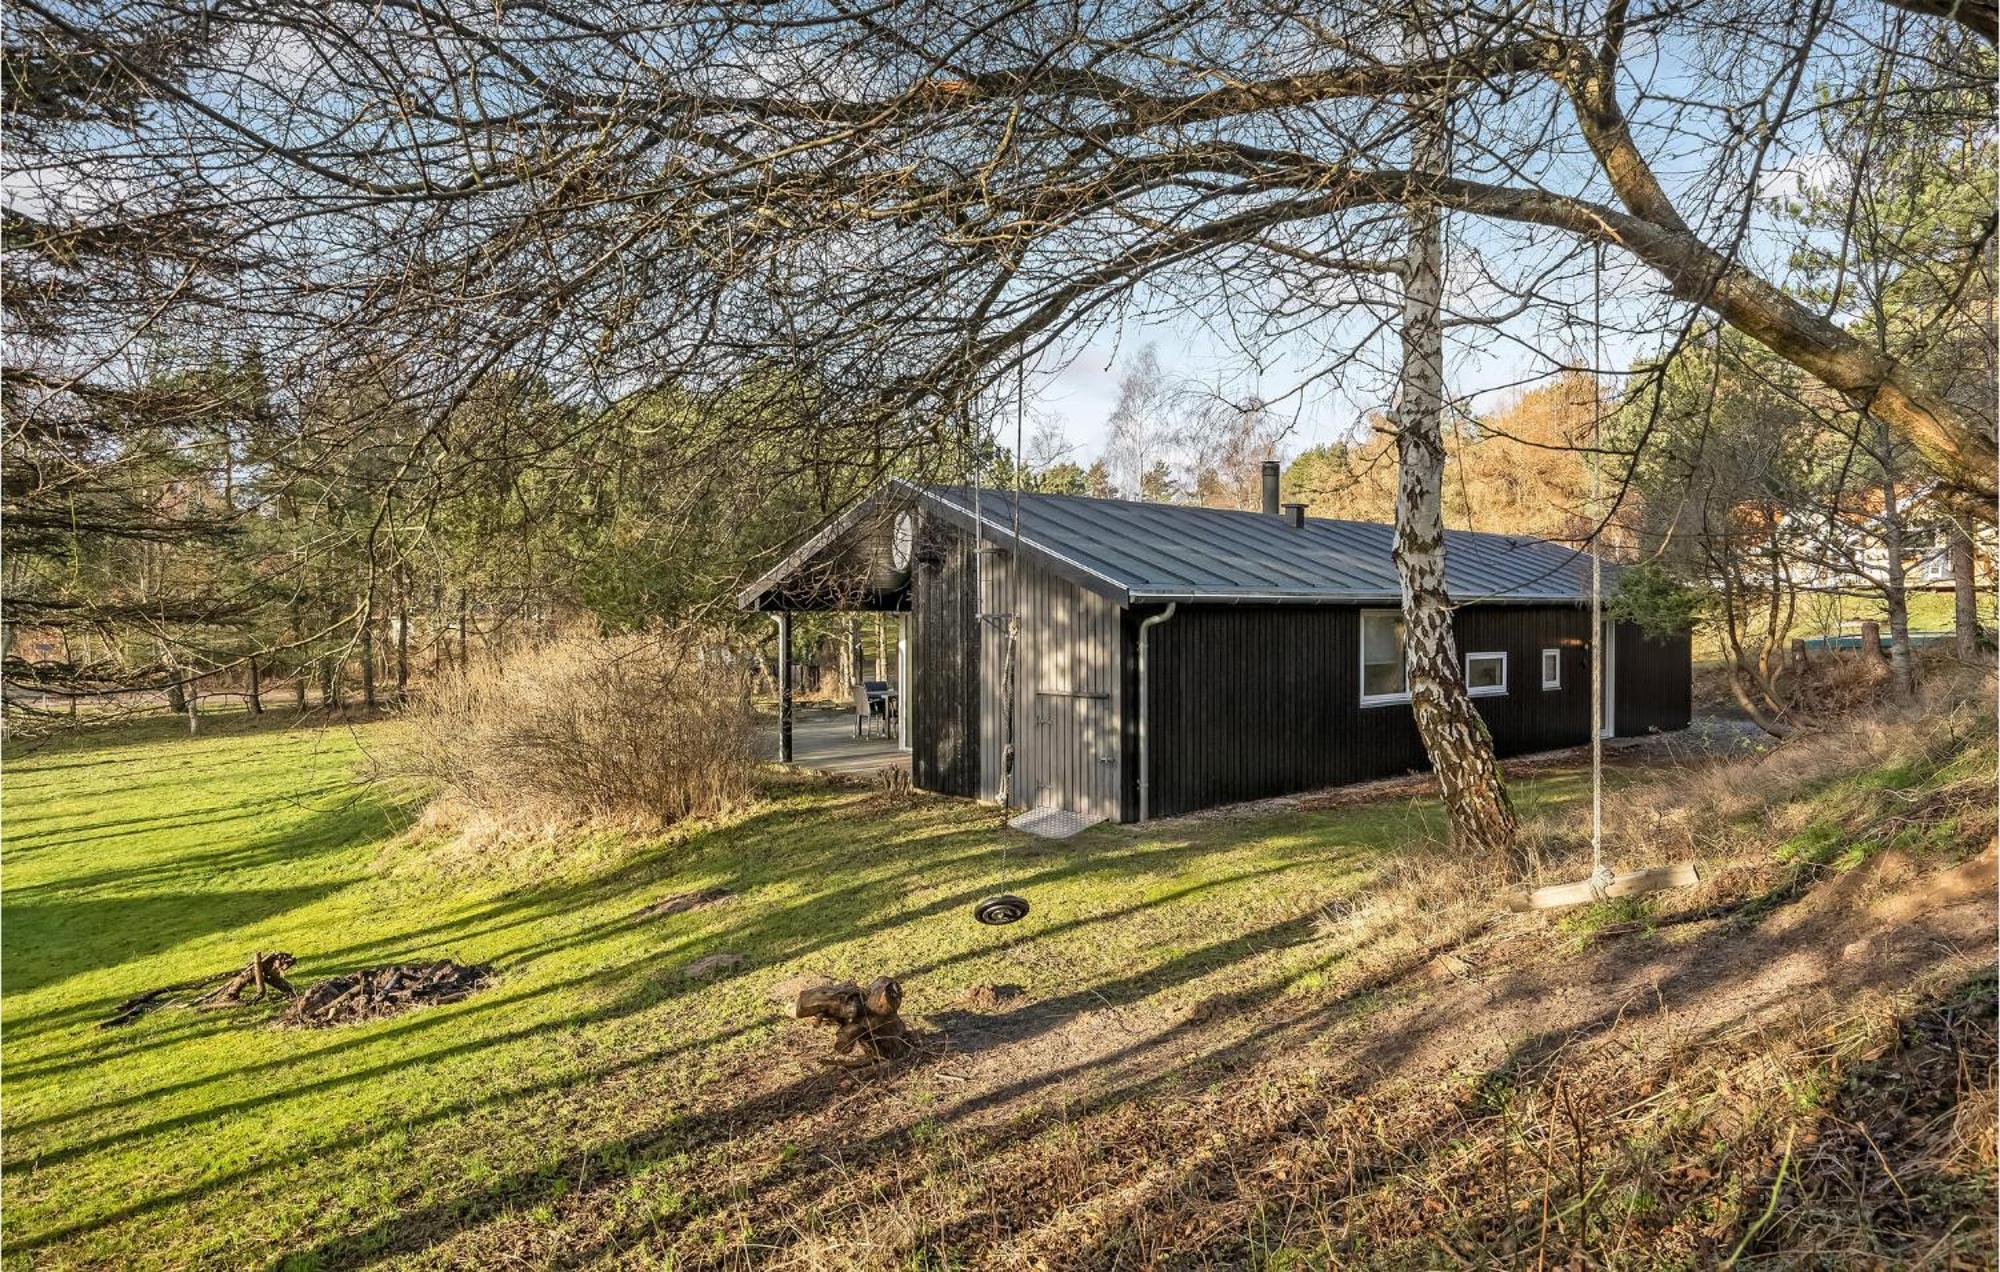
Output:
[[[1134,822],[1424,768],[1390,526],[890,482],[746,588],[776,614],[894,610],[922,790]],[[1018,518],[1018,522],[1016,522]],[[1016,536],[1018,524],[1018,536]],[[1590,634],[1590,558],[1446,536],[1466,682],[1500,754],[1688,724],[1688,638]],[[1606,586],[1616,576],[1606,566]],[[780,624],[788,626],[788,624]]]

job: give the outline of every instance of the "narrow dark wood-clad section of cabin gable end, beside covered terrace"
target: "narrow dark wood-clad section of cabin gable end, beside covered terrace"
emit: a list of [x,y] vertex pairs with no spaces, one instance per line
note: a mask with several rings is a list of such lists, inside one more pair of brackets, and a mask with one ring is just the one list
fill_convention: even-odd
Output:
[[936,544],[910,580],[910,782],[938,794],[980,794],[980,642],[972,546],[926,526]]

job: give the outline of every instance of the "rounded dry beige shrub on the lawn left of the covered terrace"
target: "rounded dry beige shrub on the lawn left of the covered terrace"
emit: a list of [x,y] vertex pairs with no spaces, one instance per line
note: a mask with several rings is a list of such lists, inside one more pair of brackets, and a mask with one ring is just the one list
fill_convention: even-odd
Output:
[[658,830],[750,796],[744,676],[696,632],[572,634],[448,678],[410,708],[398,772],[432,824],[500,834]]

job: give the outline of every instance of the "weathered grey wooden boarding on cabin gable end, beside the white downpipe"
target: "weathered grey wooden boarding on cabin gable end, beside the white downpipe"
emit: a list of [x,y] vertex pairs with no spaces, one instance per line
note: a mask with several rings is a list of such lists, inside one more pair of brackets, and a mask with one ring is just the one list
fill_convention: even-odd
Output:
[[1014,662],[1016,808],[1068,808],[1118,818],[1124,784],[1120,746],[1120,608],[1006,552],[986,554],[986,658],[980,664],[980,790],[1000,790],[1006,740],[1002,614],[1020,620]]

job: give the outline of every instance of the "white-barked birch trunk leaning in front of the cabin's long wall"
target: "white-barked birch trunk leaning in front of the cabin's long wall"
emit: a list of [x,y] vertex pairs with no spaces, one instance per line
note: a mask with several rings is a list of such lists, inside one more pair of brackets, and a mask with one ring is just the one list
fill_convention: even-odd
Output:
[[[1432,100],[1418,110],[1416,168],[1444,172],[1446,104]],[[1444,230],[1428,200],[1412,202],[1406,220],[1394,558],[1402,582],[1410,710],[1444,792],[1452,844],[1518,870],[1514,806],[1500,784],[1492,734],[1466,694],[1444,590]]]

